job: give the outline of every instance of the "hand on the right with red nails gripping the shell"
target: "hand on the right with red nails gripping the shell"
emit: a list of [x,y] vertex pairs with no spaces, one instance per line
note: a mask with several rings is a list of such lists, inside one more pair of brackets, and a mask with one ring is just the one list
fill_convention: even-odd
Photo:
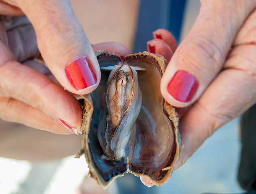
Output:
[[[214,131],[256,103],[255,8],[256,2],[250,0],[201,0],[192,30],[167,66],[161,92],[178,107],[184,145],[176,169]],[[156,32],[161,36],[161,30]],[[158,41],[163,44],[171,38]],[[156,53],[172,55],[170,48],[149,43]]]

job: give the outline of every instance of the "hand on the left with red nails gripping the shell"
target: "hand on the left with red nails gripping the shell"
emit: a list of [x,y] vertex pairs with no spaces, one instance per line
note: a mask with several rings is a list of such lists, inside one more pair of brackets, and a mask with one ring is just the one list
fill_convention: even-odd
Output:
[[[71,133],[63,120],[78,133],[82,110],[71,93],[87,94],[97,87],[100,70],[93,49],[123,56],[128,49],[114,42],[91,46],[68,0],[0,1],[0,14],[0,118]],[[23,15],[32,25],[27,17],[17,17]],[[32,60],[39,53],[47,67]],[[87,57],[91,67],[80,60],[76,71],[72,62],[78,57]],[[87,67],[87,76],[73,80],[81,67]]]

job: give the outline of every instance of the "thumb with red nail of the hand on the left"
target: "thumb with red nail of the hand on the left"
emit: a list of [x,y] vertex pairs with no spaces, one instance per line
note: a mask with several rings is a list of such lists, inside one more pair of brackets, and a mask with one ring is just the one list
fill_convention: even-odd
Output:
[[40,53],[60,84],[72,93],[92,92],[99,84],[99,65],[69,0],[16,2],[30,19]]

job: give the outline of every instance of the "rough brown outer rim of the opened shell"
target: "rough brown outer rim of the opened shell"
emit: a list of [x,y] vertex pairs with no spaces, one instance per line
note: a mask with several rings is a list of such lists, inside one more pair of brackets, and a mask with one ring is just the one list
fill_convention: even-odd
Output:
[[[165,71],[165,67],[167,64],[167,61],[162,57],[161,55],[158,54],[153,54],[153,53],[148,53],[148,52],[143,52],[143,53],[136,53],[136,54],[131,54],[127,55],[123,60],[118,56],[113,53],[110,53],[108,51],[97,51],[95,52],[97,59],[99,63],[101,61],[114,61],[116,65],[121,64],[121,63],[129,63],[129,65],[137,66],[139,63],[142,63],[142,61],[150,62],[152,63],[155,68],[157,68],[158,72],[163,75]],[[138,65],[140,66],[140,65]],[[159,86],[160,87],[160,86]],[[170,162],[165,166],[162,171],[163,175],[160,180],[156,180],[151,177],[150,173],[145,173],[145,169],[143,170],[133,170],[133,166],[130,165],[129,167],[126,167],[126,170],[123,170],[122,165],[116,167],[116,169],[121,169],[120,171],[118,170],[117,174],[114,174],[108,181],[105,181],[103,178],[103,175],[101,175],[101,171],[98,169],[98,165],[93,159],[92,152],[94,150],[92,147],[90,147],[91,140],[89,139],[89,133],[92,133],[90,130],[95,130],[95,129],[90,129],[90,124],[93,125],[92,117],[93,117],[93,101],[91,99],[91,94],[83,96],[85,99],[84,102],[84,109],[83,109],[83,123],[82,123],[82,147],[84,149],[85,157],[87,160],[87,163],[89,165],[89,174],[91,175],[92,178],[94,178],[97,183],[104,188],[106,188],[109,183],[116,177],[123,176],[125,172],[130,172],[133,173],[135,176],[147,176],[148,179],[154,183],[157,186],[163,185],[165,183],[172,171],[174,164],[176,163],[178,156],[180,155],[180,137],[179,137],[179,132],[178,132],[178,116],[174,110],[174,108],[169,105],[164,99],[163,99],[163,112],[165,116],[169,119],[169,122],[172,126],[173,130],[173,135],[174,135],[174,141],[173,141],[173,147],[172,148],[172,153],[170,157]],[[96,105],[97,106],[97,105]],[[91,127],[92,128],[92,127]],[[114,166],[114,163],[113,163]],[[150,171],[150,169],[148,169]]]

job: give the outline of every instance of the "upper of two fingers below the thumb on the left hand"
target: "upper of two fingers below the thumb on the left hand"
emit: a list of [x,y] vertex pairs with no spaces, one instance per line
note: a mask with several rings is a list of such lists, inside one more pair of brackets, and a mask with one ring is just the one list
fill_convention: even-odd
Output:
[[76,98],[49,78],[21,65],[8,61],[0,66],[0,95],[15,98],[42,110],[55,119],[64,120],[80,132],[82,110]]

